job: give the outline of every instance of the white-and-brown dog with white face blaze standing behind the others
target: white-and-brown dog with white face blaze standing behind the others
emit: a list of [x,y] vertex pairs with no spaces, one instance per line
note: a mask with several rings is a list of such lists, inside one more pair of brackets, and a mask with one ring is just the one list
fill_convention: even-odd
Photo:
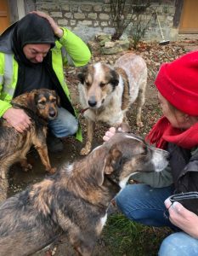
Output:
[[87,143],[81,154],[88,154],[92,148],[94,125],[105,122],[110,126],[127,123],[126,113],[138,100],[137,125],[143,126],[141,111],[144,105],[147,84],[147,67],[139,55],[122,55],[114,67],[95,63],[78,74],[80,102],[87,119]]

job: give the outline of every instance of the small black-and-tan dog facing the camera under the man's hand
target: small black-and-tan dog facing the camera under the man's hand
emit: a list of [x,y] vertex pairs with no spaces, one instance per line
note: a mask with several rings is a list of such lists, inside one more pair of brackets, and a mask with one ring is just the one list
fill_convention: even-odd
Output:
[[46,145],[48,120],[55,119],[59,105],[59,97],[54,90],[31,90],[17,96],[12,101],[14,108],[22,108],[31,117],[31,126],[20,133],[5,119],[0,119],[0,201],[6,198],[8,189],[8,169],[20,161],[25,171],[31,168],[27,163],[26,154],[34,145],[41,157],[46,171],[54,173],[48,159]]

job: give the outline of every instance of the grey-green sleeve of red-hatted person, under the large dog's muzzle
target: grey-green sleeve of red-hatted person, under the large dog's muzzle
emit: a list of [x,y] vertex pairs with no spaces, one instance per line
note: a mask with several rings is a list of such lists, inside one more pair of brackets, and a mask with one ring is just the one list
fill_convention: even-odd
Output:
[[173,184],[171,167],[167,166],[161,172],[137,172],[132,176],[134,181],[145,183],[152,188],[163,188]]

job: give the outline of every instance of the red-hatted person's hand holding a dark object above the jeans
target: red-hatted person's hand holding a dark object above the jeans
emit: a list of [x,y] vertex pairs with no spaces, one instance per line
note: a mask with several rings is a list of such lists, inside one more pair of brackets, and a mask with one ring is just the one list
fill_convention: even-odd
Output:
[[172,204],[169,198],[165,201],[165,206],[168,209],[170,221],[190,236],[198,239],[198,216],[187,210],[178,201]]

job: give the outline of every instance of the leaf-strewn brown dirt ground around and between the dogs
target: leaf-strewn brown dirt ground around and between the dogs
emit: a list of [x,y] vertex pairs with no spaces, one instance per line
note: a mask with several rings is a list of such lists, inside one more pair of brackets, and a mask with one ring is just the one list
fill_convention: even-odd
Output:
[[[165,61],[173,61],[173,59],[177,58],[179,55],[183,55],[185,52],[190,50],[197,49],[197,41],[184,40],[181,42],[173,42],[168,44],[167,46],[159,46],[158,44],[140,44],[137,50],[133,50],[139,55],[142,55],[148,66],[148,85],[146,90],[146,101],[143,109],[143,121],[144,127],[141,130],[138,130],[135,125],[135,104],[133,108],[130,108],[128,115],[128,119],[130,120],[130,125],[134,133],[144,136],[149,130],[150,127],[156,122],[156,119],[161,115],[161,111],[158,105],[157,96],[156,96],[156,88],[153,85],[156,77],[156,73],[162,62]],[[121,53],[119,55],[124,54]],[[105,61],[107,63],[113,64],[119,55],[94,55],[92,61]],[[78,103],[78,93],[77,93],[77,79],[76,73],[78,72],[78,68],[69,68],[67,69],[65,76],[68,81],[69,88],[71,90],[71,98],[77,109],[80,109],[80,105]],[[82,134],[83,137],[86,137],[86,126],[83,117],[80,115],[79,121],[82,125]],[[104,135],[107,127],[101,126],[96,127],[95,138],[94,138],[94,146],[102,143],[102,136]],[[66,161],[72,162],[80,157],[79,152],[82,148],[83,143],[78,143],[74,138],[68,139],[65,142],[64,151],[61,154],[50,154],[49,159],[52,163],[52,166],[59,166]],[[10,188],[9,195],[13,195],[25,189],[25,187],[31,183],[37,183],[43,177],[45,177],[46,173],[44,172],[44,168],[42,166],[41,160],[35,150],[31,150],[28,154],[28,160],[33,165],[33,169],[31,172],[22,172],[20,166],[13,166],[10,172]],[[50,247],[52,249],[51,253],[55,256],[72,256],[76,255],[67,242],[67,240],[59,241],[59,244],[53,245]],[[48,256],[50,255],[48,248],[43,249],[39,253],[35,253],[35,256]],[[105,247],[105,241],[102,239],[97,243],[93,256],[100,255],[110,255],[108,248]],[[141,255],[142,256],[142,255]]]

